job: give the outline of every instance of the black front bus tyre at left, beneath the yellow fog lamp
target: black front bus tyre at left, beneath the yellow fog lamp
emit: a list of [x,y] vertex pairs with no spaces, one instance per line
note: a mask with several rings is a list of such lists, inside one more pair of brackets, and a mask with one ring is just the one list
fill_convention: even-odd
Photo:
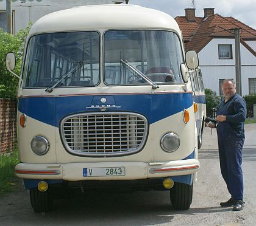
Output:
[[37,188],[31,188],[30,202],[35,213],[49,212],[53,207],[53,199],[48,191],[39,191]]

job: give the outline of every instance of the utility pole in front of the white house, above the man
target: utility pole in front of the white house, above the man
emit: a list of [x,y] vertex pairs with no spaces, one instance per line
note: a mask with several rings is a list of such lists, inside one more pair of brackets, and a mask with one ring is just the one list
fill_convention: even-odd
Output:
[[240,54],[240,29],[235,30],[235,80],[236,92],[242,95],[242,79],[241,79],[241,54]]

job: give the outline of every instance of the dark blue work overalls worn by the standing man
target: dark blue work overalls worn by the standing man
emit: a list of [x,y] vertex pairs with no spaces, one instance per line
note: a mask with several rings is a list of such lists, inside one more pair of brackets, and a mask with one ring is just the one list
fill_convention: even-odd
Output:
[[[239,98],[240,96],[236,94],[235,99],[237,99],[237,97]],[[233,99],[234,97],[226,103],[223,100],[218,106],[217,115],[230,115],[230,111],[233,111]],[[243,108],[244,103],[245,101],[242,104]],[[246,109],[243,111],[246,112]],[[233,114],[233,112],[231,114]],[[241,128],[243,130],[243,126],[241,126]],[[230,125],[230,122],[226,121],[218,123],[217,134],[222,177],[227,184],[227,189],[229,190],[231,197],[233,199],[243,200],[244,187],[241,165],[244,131],[241,131],[240,129],[240,133],[237,133],[237,131],[235,131]]]

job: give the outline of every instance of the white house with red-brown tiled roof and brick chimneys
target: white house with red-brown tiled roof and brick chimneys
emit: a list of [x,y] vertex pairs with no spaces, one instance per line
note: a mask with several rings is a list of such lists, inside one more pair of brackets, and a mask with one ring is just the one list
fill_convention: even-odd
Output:
[[198,53],[204,86],[221,95],[225,78],[236,81],[234,30],[239,29],[241,94],[256,94],[256,30],[231,16],[215,14],[214,8],[205,8],[204,17],[195,16],[195,11],[185,9],[185,16],[175,19],[185,49]]

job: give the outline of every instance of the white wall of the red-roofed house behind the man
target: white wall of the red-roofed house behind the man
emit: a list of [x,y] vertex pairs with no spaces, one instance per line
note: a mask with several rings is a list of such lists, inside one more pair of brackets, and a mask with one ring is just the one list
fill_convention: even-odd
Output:
[[[219,60],[219,44],[232,44],[233,59]],[[242,95],[247,95],[249,94],[248,78],[256,78],[256,57],[243,44],[240,45],[240,50]],[[204,87],[212,89],[219,95],[219,79],[233,78],[235,80],[235,39],[212,39],[198,53],[198,56]]]

